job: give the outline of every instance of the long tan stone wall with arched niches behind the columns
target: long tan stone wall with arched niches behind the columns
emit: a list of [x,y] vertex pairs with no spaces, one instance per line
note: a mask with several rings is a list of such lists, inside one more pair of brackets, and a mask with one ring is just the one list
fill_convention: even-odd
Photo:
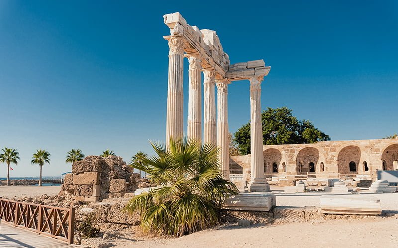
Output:
[[[302,174],[306,174],[311,162],[314,163],[315,174],[320,177],[338,177],[339,174],[375,175],[376,170],[383,170],[383,161],[387,170],[394,169],[394,165],[398,167],[398,138],[265,145],[263,151],[264,171],[272,173],[272,164],[276,162],[281,175],[300,174],[298,163],[302,164]],[[231,160],[242,168],[250,168],[250,155],[232,156]],[[355,163],[355,172],[350,171],[350,162]]]

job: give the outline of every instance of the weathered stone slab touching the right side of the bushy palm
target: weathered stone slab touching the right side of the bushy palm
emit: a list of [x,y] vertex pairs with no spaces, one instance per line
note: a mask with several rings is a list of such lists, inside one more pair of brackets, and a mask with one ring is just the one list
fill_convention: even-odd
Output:
[[242,193],[234,195],[225,201],[223,209],[245,211],[270,211],[276,205],[273,194]]

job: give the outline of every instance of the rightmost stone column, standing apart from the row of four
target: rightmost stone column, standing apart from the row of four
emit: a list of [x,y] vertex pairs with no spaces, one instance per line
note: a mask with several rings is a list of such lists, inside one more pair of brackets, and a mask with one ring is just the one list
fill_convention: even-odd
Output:
[[264,176],[263,127],[261,123],[261,81],[263,76],[250,78],[250,192],[269,192]]

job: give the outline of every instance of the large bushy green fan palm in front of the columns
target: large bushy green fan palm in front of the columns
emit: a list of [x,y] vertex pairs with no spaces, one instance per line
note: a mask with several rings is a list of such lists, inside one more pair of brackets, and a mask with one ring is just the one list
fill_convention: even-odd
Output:
[[140,213],[144,232],[181,236],[216,224],[217,208],[238,192],[222,177],[218,149],[187,138],[171,139],[168,148],[151,145],[156,155],[133,167],[158,187],[133,197],[125,210]]

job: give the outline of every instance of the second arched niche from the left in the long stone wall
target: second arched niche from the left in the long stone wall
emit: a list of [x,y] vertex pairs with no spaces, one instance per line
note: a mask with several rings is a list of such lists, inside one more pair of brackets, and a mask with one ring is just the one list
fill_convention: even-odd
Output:
[[[314,166],[314,173],[317,169],[319,161],[319,151],[314,147],[305,147],[301,149],[296,156],[296,172],[297,174],[306,174],[310,172],[310,164]],[[311,164],[311,166],[312,166]]]

